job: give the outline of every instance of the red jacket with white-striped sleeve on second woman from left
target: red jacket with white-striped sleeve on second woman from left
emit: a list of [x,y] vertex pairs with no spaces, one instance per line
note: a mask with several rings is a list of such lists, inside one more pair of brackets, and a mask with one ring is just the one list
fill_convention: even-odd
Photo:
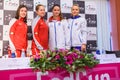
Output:
[[[48,26],[43,18],[37,16],[32,23],[32,52],[37,49],[48,49]],[[33,52],[35,53],[35,52]]]

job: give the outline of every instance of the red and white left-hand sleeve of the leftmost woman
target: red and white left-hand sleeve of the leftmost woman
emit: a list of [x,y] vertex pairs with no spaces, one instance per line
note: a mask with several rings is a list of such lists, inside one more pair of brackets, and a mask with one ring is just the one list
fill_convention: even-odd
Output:
[[14,35],[15,35],[15,27],[16,27],[16,19],[13,19],[9,23],[9,46],[11,51],[15,51],[15,43],[14,43]]

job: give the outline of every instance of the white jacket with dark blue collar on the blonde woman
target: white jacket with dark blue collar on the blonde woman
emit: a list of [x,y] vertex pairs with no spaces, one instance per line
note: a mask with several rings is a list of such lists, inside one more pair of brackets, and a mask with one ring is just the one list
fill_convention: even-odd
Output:
[[70,46],[76,47],[86,44],[87,42],[87,25],[85,18],[80,16],[71,17],[68,19],[68,30]]

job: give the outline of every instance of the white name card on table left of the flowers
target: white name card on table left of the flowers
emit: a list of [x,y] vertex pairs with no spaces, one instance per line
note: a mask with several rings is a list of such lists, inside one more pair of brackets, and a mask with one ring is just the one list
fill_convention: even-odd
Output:
[[0,70],[30,68],[30,58],[1,58]]

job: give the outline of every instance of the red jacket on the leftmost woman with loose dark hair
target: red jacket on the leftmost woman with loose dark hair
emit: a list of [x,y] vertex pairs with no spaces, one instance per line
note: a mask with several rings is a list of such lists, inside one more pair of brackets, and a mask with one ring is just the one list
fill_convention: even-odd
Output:
[[11,28],[9,32],[10,48],[15,50],[27,49],[27,25],[21,19],[13,19],[10,22]]

